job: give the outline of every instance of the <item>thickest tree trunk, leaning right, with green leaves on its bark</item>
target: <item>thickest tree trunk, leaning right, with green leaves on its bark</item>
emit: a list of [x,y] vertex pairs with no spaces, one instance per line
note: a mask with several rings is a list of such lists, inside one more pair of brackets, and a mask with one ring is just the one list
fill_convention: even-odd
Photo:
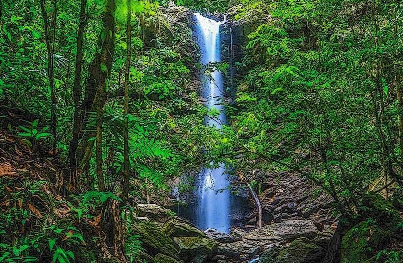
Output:
[[89,64],[89,76],[87,78],[84,100],[80,106],[82,112],[80,123],[83,134],[79,138],[76,150],[76,163],[78,169],[83,169],[91,158],[95,137],[92,125],[98,108],[103,109],[107,98],[107,82],[112,70],[112,63],[115,52],[115,23],[113,12],[115,0],[108,0],[103,17],[103,29],[98,37],[100,52],[95,54],[94,60]]

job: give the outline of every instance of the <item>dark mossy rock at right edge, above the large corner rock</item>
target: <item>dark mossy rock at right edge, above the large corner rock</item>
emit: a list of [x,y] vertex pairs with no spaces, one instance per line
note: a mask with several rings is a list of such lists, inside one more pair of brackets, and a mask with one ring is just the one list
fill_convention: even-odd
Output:
[[386,230],[396,230],[400,222],[399,211],[381,195],[369,193],[362,197],[362,205],[368,207],[364,216],[376,219]]

